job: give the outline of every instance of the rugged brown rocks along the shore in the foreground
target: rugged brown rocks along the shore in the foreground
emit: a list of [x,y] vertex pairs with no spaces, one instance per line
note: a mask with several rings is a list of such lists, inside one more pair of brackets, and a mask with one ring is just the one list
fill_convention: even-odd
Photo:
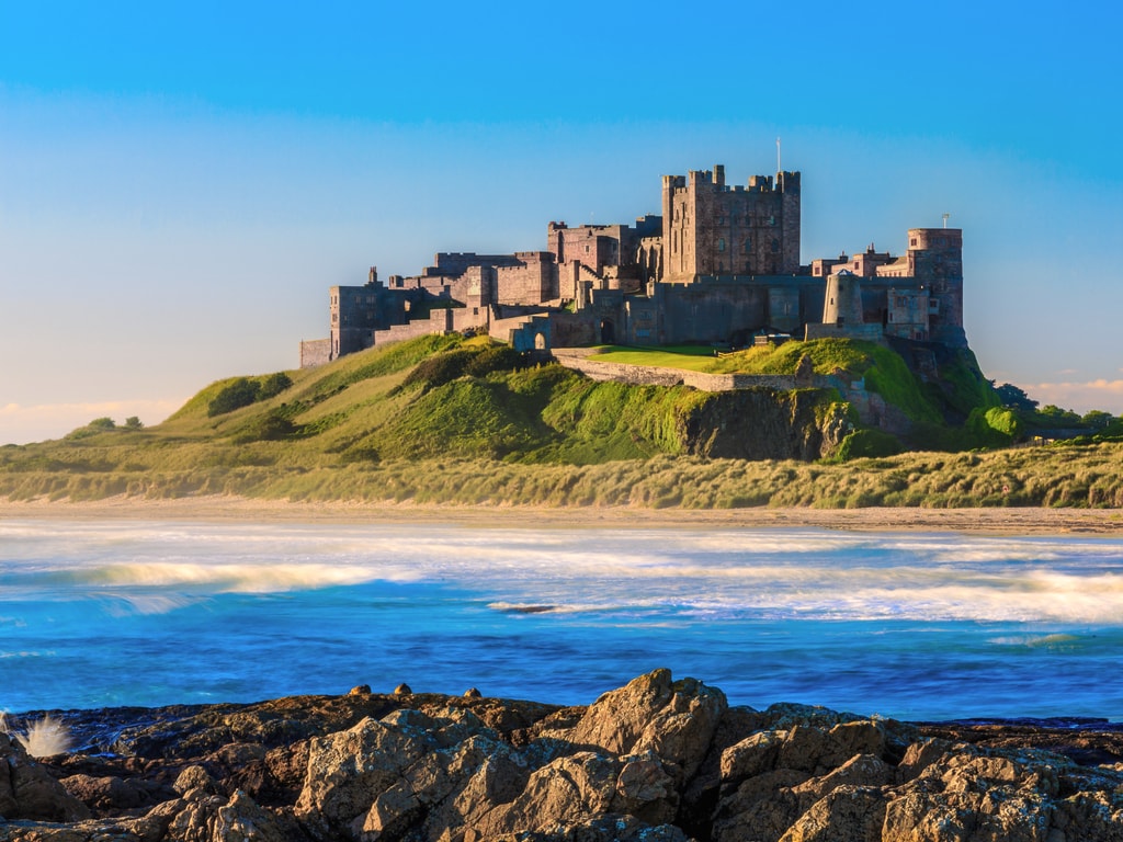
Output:
[[2,842],[1123,840],[1123,725],[756,711],[668,670],[587,707],[364,686],[53,716],[69,753],[0,734]]

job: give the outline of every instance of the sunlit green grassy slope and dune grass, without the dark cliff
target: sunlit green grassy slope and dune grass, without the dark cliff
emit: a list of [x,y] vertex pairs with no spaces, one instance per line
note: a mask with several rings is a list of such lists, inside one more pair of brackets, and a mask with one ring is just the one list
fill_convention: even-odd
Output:
[[[704,400],[692,390],[593,383],[558,366],[408,382],[435,353],[478,350],[478,341],[430,337],[290,372],[292,386],[280,395],[217,418],[208,417],[208,404],[231,381],[208,386],[155,428],[86,429],[61,441],[0,448],[0,496],[1123,506],[1120,445],[910,454],[847,465],[706,461],[677,455],[675,419]],[[695,358],[787,370],[798,359],[780,355],[785,347],[747,351],[740,363]],[[810,350],[824,372],[844,368],[869,382],[873,370],[893,370],[892,360],[861,346]],[[261,438],[272,429],[265,422],[277,419],[291,424],[285,438]]]

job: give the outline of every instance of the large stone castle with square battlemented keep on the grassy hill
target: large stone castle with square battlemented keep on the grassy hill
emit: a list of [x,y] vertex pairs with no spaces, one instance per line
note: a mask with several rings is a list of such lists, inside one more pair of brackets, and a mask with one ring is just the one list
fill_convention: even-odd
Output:
[[330,290],[313,366],[396,339],[486,332],[519,350],[597,344],[743,346],[844,336],[964,348],[962,232],[909,230],[905,254],[801,263],[798,172],[725,183],[724,167],[663,176],[663,214],[550,222],[546,250],[440,253],[419,275],[371,268]]

